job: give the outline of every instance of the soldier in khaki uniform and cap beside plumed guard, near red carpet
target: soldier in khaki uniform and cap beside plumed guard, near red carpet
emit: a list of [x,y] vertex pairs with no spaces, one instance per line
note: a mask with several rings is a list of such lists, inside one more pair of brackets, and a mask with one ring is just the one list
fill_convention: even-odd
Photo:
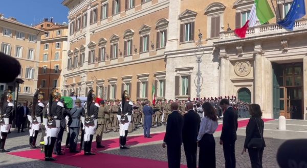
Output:
[[103,128],[105,124],[105,120],[104,120],[105,114],[107,114],[107,110],[104,106],[104,100],[101,100],[99,111],[98,111],[98,117],[97,117],[97,124],[98,124],[98,128],[96,130],[97,148],[104,148],[104,146],[101,145],[101,140],[102,140]]

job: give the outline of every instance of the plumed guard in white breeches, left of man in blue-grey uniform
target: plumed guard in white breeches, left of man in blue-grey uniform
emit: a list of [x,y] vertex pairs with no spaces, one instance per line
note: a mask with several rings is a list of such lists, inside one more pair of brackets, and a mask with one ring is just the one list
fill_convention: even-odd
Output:
[[54,161],[52,157],[52,151],[56,138],[60,131],[60,120],[57,120],[62,115],[62,108],[64,104],[60,102],[61,94],[56,92],[56,88],[51,90],[49,96],[49,112],[48,112],[48,123],[47,123],[47,138],[45,139],[45,160]]

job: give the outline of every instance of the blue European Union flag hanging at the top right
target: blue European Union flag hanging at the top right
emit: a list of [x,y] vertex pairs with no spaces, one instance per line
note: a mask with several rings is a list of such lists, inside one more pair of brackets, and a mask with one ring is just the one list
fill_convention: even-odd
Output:
[[305,14],[305,1],[294,0],[286,17],[278,21],[277,24],[279,24],[284,29],[292,31],[295,24],[295,20],[303,17]]

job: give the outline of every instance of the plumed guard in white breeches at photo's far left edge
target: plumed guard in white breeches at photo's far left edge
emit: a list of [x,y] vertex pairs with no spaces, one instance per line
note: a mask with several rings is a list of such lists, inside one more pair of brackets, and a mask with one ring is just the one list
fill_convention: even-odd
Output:
[[10,152],[4,149],[8,132],[11,128],[10,118],[14,114],[13,95],[10,90],[4,91],[0,100],[0,153]]

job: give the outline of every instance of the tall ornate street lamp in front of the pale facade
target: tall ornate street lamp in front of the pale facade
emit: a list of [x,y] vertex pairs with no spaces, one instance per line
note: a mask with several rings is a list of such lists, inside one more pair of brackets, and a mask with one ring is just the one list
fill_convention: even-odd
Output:
[[[196,73],[196,77],[194,79],[194,83],[195,83],[195,86],[197,87],[196,89],[196,98],[200,99],[200,92],[201,92],[201,86],[203,85],[203,77],[202,77],[202,73],[201,73],[201,70],[200,70],[200,64],[202,62],[202,57],[203,57],[203,54],[204,54],[204,50],[202,52],[202,38],[203,38],[203,34],[201,33],[201,31],[199,30],[199,40],[196,42],[196,48],[194,50],[194,53],[195,53],[195,57],[196,57],[196,63],[198,63],[198,71]],[[197,79],[197,81],[196,81]]]

